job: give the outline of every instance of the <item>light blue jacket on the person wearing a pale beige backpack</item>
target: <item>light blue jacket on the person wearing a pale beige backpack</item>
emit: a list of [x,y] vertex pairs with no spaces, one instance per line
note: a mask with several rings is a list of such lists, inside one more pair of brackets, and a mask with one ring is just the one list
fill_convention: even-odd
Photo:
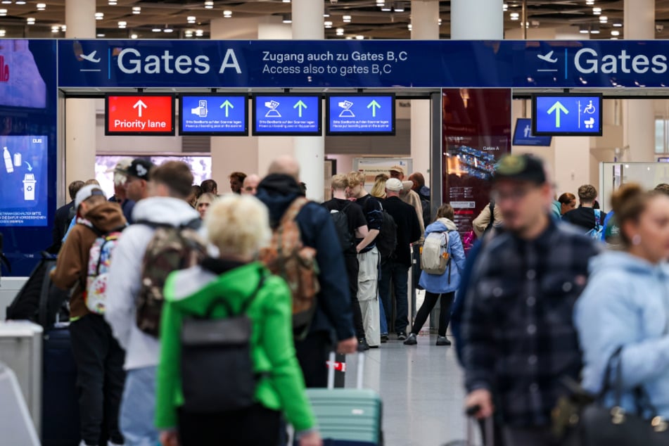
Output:
[[440,276],[437,274],[427,274],[424,271],[421,272],[421,280],[419,283],[430,293],[440,294],[457,291],[460,286],[460,276],[464,271],[464,248],[462,247],[460,234],[458,233],[457,226],[454,222],[447,218],[440,218],[425,229],[425,236],[427,238],[427,236],[433,232],[444,231],[449,231],[446,252],[451,256],[451,265],[450,268],[447,268],[446,272]]

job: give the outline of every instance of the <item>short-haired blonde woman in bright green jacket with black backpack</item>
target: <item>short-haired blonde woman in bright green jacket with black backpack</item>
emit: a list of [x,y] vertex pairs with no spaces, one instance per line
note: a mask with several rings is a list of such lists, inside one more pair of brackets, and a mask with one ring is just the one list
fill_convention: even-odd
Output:
[[[252,261],[271,236],[267,209],[251,196],[225,196],[211,205],[205,226],[219,257],[174,272],[165,284],[155,412],[161,442],[274,446],[279,443],[283,413],[300,446],[320,446],[295,358],[291,293],[283,279]],[[221,300],[225,305],[218,305]],[[232,411],[186,410],[181,378],[184,320],[220,319],[228,310],[250,319],[250,356],[257,378],[254,404]]]

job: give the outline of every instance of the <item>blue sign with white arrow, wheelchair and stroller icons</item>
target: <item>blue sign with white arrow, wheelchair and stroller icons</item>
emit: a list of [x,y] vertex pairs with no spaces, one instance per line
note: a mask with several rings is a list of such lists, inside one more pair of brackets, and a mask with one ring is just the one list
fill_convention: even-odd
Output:
[[601,95],[535,95],[532,118],[535,136],[601,136]]

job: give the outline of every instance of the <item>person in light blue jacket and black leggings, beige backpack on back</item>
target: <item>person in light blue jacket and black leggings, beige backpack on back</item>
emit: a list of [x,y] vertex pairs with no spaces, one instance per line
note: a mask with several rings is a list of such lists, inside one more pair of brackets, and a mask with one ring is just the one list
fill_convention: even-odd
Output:
[[446,268],[444,274],[421,272],[419,283],[425,288],[425,300],[416,314],[414,326],[412,326],[407,340],[404,341],[404,345],[416,345],[418,343],[416,335],[423,328],[423,324],[430,316],[430,312],[437,304],[440,296],[441,307],[437,345],[451,345],[451,341],[446,338],[446,328],[451,319],[451,305],[453,305],[455,291],[460,287],[460,275],[464,271],[465,262],[464,248],[453,218],[453,207],[449,204],[441,205],[437,211],[435,222],[425,229],[426,237],[433,232],[447,232],[448,246],[446,252],[450,256],[450,265]]

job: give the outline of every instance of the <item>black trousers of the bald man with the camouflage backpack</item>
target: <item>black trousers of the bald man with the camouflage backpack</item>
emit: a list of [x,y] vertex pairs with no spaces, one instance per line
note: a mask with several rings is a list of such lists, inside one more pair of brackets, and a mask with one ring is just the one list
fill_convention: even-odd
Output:
[[330,333],[316,331],[303,340],[295,340],[295,352],[309,388],[328,386],[328,367],[326,362],[332,351]]

